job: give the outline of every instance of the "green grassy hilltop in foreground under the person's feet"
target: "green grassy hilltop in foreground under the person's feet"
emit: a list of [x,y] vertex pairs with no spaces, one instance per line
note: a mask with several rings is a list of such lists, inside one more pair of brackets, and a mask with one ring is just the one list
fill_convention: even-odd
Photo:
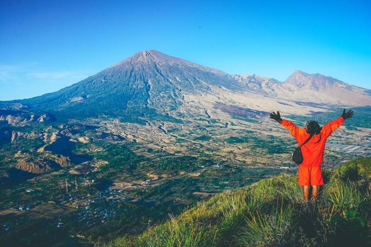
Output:
[[139,236],[106,247],[370,246],[371,158],[323,171],[315,203],[282,174],[218,194]]

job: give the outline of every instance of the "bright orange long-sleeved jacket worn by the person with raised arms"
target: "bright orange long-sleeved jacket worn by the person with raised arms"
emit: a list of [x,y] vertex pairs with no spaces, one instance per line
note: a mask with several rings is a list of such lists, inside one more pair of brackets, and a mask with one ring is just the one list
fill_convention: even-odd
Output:
[[[344,122],[342,117],[338,117],[331,122],[325,124],[319,134],[315,134],[311,140],[301,147],[303,154],[303,167],[321,166],[324,155],[325,142],[336,128],[340,127]],[[290,134],[295,137],[299,145],[301,145],[309,136],[306,128],[299,128],[292,121],[282,119],[282,126],[290,131]]]

